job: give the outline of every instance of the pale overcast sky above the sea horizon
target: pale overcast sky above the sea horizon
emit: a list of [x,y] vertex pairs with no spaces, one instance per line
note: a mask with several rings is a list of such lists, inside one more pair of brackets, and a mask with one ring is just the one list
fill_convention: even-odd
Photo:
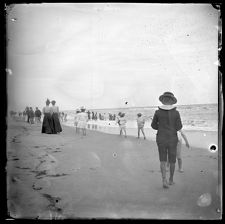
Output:
[[42,3],[7,10],[8,108],[60,110],[218,101],[210,4]]

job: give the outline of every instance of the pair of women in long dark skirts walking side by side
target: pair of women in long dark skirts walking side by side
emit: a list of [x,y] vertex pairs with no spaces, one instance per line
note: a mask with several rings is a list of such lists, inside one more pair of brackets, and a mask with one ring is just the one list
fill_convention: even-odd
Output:
[[[50,103],[52,106],[50,106]],[[59,121],[59,107],[55,105],[56,101],[46,100],[46,106],[42,112],[44,114],[41,133],[59,134],[62,132],[62,127]]]

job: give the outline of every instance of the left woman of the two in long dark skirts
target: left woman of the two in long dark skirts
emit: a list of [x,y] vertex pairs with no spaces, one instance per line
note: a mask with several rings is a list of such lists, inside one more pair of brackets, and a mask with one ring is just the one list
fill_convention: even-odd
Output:
[[51,108],[49,107],[49,104],[50,104],[50,101],[49,99],[47,99],[46,106],[42,110],[44,114],[44,118],[42,122],[41,133],[46,133],[46,134],[52,134],[52,131],[53,131]]

